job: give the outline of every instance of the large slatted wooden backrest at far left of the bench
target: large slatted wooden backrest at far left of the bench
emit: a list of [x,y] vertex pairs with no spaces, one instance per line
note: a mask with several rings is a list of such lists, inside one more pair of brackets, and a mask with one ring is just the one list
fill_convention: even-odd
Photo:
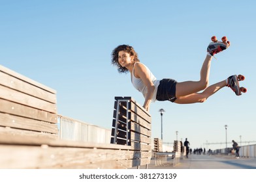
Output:
[[56,91],[0,65],[0,135],[57,138]]

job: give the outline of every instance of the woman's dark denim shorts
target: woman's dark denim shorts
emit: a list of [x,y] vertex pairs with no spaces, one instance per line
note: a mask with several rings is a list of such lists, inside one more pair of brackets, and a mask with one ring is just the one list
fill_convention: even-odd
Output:
[[157,87],[157,101],[174,102],[177,99],[176,83],[174,79],[162,79]]

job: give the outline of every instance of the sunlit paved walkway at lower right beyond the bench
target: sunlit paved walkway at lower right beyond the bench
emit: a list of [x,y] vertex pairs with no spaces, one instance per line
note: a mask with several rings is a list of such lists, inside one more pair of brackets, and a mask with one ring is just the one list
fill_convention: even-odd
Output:
[[[168,164],[155,166],[152,159],[149,169],[256,169],[256,158],[239,158],[229,155],[189,155],[189,158],[180,159],[176,166],[173,159],[168,158]],[[142,166],[141,168],[144,168]]]

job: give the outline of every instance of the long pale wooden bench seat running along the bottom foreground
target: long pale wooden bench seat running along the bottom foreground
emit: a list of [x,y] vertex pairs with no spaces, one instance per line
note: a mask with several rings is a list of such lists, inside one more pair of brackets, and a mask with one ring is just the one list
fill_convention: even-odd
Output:
[[0,145],[0,168],[132,168],[149,163],[150,157],[120,149]]

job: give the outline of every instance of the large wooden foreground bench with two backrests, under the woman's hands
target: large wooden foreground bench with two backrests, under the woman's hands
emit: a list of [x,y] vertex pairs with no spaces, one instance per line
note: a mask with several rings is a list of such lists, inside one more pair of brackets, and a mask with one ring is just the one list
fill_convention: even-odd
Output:
[[113,144],[59,140],[56,91],[3,66],[0,77],[0,168],[108,169],[150,163],[151,117],[134,99],[114,102]]

